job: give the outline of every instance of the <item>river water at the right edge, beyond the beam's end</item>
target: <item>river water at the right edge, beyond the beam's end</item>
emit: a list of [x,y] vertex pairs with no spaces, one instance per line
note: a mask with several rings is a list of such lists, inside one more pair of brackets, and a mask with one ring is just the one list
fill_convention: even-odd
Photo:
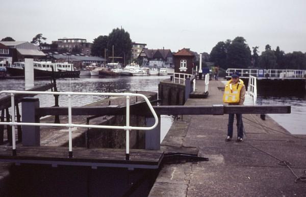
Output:
[[291,114],[270,114],[279,125],[292,134],[306,134],[306,93],[295,92],[262,92],[257,98],[258,105],[291,105]]

